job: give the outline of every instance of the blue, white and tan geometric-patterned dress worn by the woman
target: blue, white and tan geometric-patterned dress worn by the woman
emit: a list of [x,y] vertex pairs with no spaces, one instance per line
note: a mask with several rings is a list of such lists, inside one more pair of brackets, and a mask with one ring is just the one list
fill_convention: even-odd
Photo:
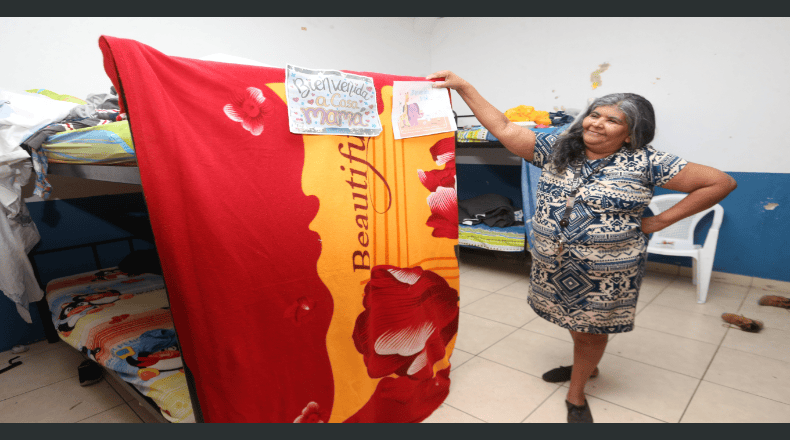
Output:
[[[669,182],[687,162],[650,146],[618,151],[595,175],[594,169],[607,159],[586,160],[569,225],[561,228],[573,166],[557,175],[549,162],[557,135],[536,136],[532,164],[543,172],[532,220],[528,302],[542,318],[577,332],[631,331],[647,260],[642,213],[653,188]],[[560,234],[566,242],[562,258]]]

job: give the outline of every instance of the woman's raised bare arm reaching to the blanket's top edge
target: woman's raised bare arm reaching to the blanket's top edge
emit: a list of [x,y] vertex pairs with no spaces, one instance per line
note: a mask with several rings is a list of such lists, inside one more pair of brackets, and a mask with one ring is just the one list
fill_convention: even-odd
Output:
[[444,81],[433,83],[434,88],[448,88],[458,92],[480,124],[499,139],[505,148],[516,156],[532,161],[535,151],[535,133],[532,130],[510,122],[504,113],[486,101],[477,89],[453,72],[441,70],[425,77],[425,79],[435,78],[444,78]]

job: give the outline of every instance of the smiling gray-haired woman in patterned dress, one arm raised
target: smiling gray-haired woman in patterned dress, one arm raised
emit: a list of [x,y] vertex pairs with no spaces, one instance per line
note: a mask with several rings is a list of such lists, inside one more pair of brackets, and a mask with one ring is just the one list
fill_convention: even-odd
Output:
[[[568,422],[591,423],[584,386],[598,375],[608,334],[633,330],[647,260],[647,234],[701,212],[737,186],[727,174],[655,150],[655,114],[645,98],[617,93],[596,99],[561,135],[510,122],[450,71],[433,87],[453,89],[477,120],[512,153],[542,168],[538,184],[528,302],[567,328],[573,366],[543,375],[570,379]],[[688,193],[653,217],[642,212],[654,186]]]

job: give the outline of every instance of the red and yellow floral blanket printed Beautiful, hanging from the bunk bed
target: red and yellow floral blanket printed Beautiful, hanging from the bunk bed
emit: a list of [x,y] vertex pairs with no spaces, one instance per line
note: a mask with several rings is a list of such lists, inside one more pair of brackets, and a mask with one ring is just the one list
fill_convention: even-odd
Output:
[[[288,129],[283,69],[102,37],[207,422],[415,422],[458,328],[452,133]],[[320,66],[318,66],[320,67]],[[329,68],[333,66],[327,66]]]

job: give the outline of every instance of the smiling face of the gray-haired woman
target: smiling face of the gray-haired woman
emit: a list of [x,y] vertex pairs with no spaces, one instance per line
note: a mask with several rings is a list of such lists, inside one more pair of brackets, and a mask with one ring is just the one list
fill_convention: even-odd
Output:
[[624,142],[631,142],[625,114],[613,105],[596,107],[582,120],[582,128],[584,145],[594,156],[592,159],[606,157],[619,150]]

